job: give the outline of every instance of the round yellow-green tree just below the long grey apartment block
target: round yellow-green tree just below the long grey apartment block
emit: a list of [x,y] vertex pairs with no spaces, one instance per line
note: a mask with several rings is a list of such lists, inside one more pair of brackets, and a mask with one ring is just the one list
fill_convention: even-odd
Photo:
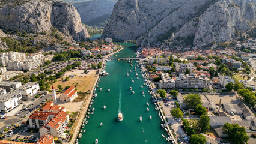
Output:
[[189,109],[195,109],[198,104],[202,104],[200,94],[188,94],[184,100]]

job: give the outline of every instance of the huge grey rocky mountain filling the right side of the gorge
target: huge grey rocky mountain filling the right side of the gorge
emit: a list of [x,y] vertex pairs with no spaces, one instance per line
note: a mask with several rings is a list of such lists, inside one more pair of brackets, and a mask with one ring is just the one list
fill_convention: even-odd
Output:
[[256,0],[120,0],[102,38],[137,40],[138,46],[209,46],[255,26],[255,5]]

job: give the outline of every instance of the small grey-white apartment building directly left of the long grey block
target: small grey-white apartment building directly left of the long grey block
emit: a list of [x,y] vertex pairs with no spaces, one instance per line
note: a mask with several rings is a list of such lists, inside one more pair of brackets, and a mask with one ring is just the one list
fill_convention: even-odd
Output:
[[160,88],[175,89],[176,82],[172,79],[168,73],[161,73]]

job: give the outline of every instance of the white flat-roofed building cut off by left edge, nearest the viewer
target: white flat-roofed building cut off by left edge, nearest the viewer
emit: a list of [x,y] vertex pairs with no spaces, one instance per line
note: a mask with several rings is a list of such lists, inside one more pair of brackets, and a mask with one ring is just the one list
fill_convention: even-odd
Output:
[[0,112],[9,112],[14,107],[22,103],[22,95],[20,92],[8,92],[0,95]]

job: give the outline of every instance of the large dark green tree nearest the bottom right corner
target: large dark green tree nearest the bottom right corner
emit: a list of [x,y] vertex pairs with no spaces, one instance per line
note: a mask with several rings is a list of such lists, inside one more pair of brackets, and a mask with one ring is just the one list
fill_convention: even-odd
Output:
[[245,127],[240,127],[238,124],[225,123],[222,129],[231,138],[232,143],[243,144],[249,140],[249,136],[245,132]]

